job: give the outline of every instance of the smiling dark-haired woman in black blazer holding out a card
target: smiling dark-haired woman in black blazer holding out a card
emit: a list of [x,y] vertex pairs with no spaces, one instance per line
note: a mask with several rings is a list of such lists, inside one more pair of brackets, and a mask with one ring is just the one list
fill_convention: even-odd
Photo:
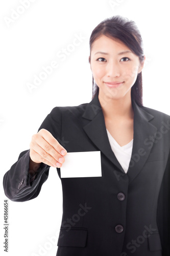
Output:
[[[142,104],[144,60],[134,22],[101,22],[90,36],[92,101],[54,108],[4,176],[6,196],[27,201],[57,167],[58,256],[170,255],[170,117]],[[66,154],[87,151],[101,152],[102,176],[61,178]]]

